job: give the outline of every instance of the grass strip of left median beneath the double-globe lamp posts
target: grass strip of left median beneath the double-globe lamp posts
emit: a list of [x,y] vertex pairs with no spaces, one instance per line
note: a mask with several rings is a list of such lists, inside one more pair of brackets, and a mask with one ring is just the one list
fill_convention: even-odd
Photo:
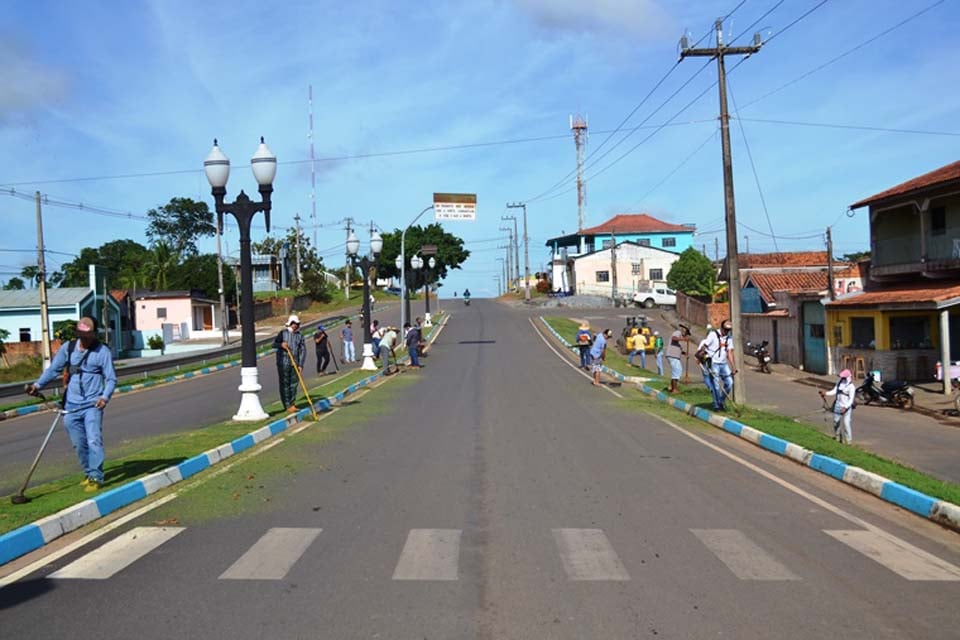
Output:
[[[311,376],[306,379],[306,383],[310,389],[311,399],[316,402],[322,397],[332,397],[336,392],[346,389],[370,374],[371,372],[353,370],[331,377],[330,380]],[[298,406],[306,406],[302,393],[298,398]],[[136,478],[179,464],[187,458],[255,431],[283,413],[283,407],[279,402],[263,408],[271,416],[263,423],[226,421],[190,431],[141,438],[125,443],[122,445],[121,455],[108,459],[104,464],[104,489],[113,489]],[[95,495],[84,493],[79,484],[81,480],[83,480],[83,474],[77,472],[60,480],[28,488],[26,495],[31,498],[31,502],[23,505],[13,505],[6,497],[0,499],[0,533],[51,515]]]

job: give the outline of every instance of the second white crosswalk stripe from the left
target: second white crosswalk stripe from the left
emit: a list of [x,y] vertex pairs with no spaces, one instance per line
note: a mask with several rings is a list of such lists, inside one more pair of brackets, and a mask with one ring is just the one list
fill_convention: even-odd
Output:
[[274,527],[247,549],[221,580],[283,580],[323,529]]

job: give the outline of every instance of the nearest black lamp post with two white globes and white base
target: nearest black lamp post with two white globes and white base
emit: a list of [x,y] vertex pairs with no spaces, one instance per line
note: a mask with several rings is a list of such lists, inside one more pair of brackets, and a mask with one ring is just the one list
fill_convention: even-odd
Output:
[[204,173],[213,191],[216,202],[217,228],[223,233],[223,215],[229,213],[237,220],[240,228],[240,304],[241,353],[240,368],[240,408],[233,416],[237,421],[264,420],[269,416],[260,406],[260,383],[257,375],[257,344],[256,326],[253,317],[253,264],[250,258],[250,223],[253,217],[263,212],[267,231],[270,230],[270,196],[273,193],[273,179],[277,175],[277,157],[273,155],[263,138],[260,146],[250,160],[253,177],[256,178],[260,191],[260,202],[250,200],[250,197],[240,191],[240,195],[233,202],[224,202],[227,195],[227,179],[230,177],[230,160],[223,154],[217,141],[213,141],[213,149],[203,162]]

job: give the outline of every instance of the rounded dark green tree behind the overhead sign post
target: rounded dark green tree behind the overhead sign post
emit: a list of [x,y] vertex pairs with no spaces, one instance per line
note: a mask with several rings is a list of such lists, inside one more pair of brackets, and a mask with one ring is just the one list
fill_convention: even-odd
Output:
[[[396,229],[382,235],[383,251],[380,252],[380,259],[377,261],[378,275],[384,278],[399,278],[400,270],[397,269],[395,262],[400,255],[401,231]],[[470,257],[470,251],[463,248],[463,240],[446,232],[438,223],[429,224],[426,227],[410,227],[407,230],[406,240],[407,272],[411,274],[410,290],[420,289],[426,283],[426,268],[416,271],[410,269],[410,258],[419,253],[423,245],[437,246],[437,255],[434,256],[437,266],[431,272],[433,282],[446,278],[449,269],[459,269],[460,265]]]

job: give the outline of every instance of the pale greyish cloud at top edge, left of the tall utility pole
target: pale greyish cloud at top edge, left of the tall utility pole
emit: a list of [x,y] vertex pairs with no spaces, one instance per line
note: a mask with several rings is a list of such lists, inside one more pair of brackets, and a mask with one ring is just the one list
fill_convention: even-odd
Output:
[[673,37],[669,14],[654,0],[515,0],[540,26],[560,32]]

